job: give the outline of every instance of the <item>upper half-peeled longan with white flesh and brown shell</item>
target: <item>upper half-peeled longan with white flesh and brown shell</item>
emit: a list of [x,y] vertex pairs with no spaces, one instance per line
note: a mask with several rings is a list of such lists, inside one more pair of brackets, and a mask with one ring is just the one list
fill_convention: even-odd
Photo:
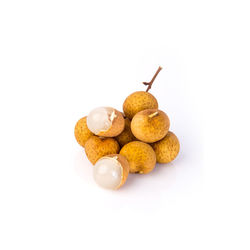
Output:
[[123,131],[125,122],[121,112],[110,107],[100,107],[89,113],[87,125],[95,135],[114,137]]

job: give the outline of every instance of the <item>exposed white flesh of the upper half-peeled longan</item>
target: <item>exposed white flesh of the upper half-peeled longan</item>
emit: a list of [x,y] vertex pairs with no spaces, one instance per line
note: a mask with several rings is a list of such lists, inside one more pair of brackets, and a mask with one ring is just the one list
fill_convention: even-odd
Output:
[[100,107],[92,110],[87,117],[87,126],[89,130],[98,135],[110,129],[115,119],[115,110],[109,107]]

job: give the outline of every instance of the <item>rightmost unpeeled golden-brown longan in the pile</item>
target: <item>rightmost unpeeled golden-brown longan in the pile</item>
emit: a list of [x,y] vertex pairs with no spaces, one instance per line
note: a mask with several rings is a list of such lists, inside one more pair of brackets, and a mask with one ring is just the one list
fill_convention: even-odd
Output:
[[180,143],[177,136],[169,131],[160,141],[152,143],[156,160],[158,163],[168,163],[173,161],[180,151]]

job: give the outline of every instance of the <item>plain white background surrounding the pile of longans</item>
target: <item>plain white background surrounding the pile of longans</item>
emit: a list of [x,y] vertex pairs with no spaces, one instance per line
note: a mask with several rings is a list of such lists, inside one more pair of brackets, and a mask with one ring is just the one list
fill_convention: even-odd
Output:
[[[0,1],[0,249],[250,249],[249,1]],[[73,135],[151,93],[179,157],[99,188]]]

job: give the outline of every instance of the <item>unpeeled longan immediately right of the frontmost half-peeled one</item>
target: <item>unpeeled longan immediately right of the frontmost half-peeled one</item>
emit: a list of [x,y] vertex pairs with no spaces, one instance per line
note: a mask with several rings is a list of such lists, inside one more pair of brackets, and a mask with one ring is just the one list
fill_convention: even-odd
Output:
[[127,158],[130,173],[147,174],[156,164],[153,148],[144,142],[130,142],[121,149],[120,154]]

